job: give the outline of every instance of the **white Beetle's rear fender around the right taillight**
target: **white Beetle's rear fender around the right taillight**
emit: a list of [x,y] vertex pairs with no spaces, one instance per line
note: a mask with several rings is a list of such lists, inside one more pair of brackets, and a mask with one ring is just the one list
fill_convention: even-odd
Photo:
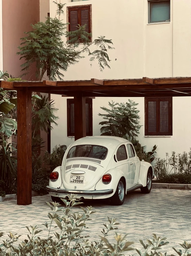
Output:
[[[102,182],[102,177],[104,174],[110,174],[111,175],[111,182],[109,184],[104,184]],[[125,181],[125,178],[124,178],[124,174],[122,173],[122,171],[118,168],[112,168],[110,169],[109,171],[106,171],[102,175],[102,177],[99,179],[99,181],[96,183],[96,186],[95,186],[95,189],[96,190],[102,190],[102,189],[113,189],[113,194],[115,193],[116,189],[117,189],[117,186],[118,186],[118,183],[119,183],[119,180],[121,178],[124,179],[124,182],[125,182],[125,194],[127,194],[127,189],[126,189],[126,181]],[[112,195],[113,195],[112,194]],[[111,195],[111,196],[112,196]]]

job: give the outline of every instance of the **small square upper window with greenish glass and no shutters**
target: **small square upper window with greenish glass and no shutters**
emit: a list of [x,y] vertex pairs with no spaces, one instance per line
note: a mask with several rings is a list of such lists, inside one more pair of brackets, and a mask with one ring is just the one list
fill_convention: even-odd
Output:
[[170,0],[149,1],[149,23],[170,21]]

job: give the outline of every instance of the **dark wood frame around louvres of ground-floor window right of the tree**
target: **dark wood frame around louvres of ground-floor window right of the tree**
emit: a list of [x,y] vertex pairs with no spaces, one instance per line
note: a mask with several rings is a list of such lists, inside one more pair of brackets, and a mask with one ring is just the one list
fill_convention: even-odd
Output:
[[[160,132],[159,126],[160,126],[160,107],[159,103],[160,101],[166,101],[168,99],[169,101],[169,131],[168,133]],[[149,101],[157,101],[157,123],[158,123],[158,131],[157,133],[149,132],[148,131],[148,102]],[[145,97],[144,98],[144,135],[145,136],[172,136],[172,97]]]

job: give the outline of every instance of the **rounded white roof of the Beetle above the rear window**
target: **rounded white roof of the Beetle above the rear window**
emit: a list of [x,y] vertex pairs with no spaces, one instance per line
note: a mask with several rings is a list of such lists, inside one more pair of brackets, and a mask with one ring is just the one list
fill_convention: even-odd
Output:
[[125,143],[129,142],[126,139],[119,138],[119,137],[114,137],[114,136],[88,136],[81,138],[74,143],[72,143],[72,146],[76,145],[84,145],[84,144],[89,144],[89,145],[100,145],[103,147],[117,147],[120,143]]

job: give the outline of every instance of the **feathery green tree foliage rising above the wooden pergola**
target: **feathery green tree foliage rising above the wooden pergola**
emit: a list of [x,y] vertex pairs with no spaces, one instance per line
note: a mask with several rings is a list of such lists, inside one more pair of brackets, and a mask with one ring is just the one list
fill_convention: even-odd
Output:
[[[26,36],[21,38],[22,43],[17,54],[21,56],[20,59],[25,60],[21,65],[21,71],[25,72],[23,75],[26,75],[31,65],[36,63],[38,80],[42,80],[47,69],[50,80],[62,80],[64,75],[61,71],[67,71],[70,65],[78,63],[84,58],[84,53],[90,56],[91,62],[98,61],[101,71],[104,67],[110,68],[107,51],[112,49],[112,40],[100,36],[91,42],[91,34],[85,30],[86,24],[78,25],[76,31],[67,32],[67,24],[60,20],[64,4],[54,3],[57,5],[56,17],[47,17],[45,22],[31,25],[33,30],[25,32]],[[66,44],[63,43],[63,36],[69,38]],[[90,51],[93,45],[96,46],[96,50]]]

